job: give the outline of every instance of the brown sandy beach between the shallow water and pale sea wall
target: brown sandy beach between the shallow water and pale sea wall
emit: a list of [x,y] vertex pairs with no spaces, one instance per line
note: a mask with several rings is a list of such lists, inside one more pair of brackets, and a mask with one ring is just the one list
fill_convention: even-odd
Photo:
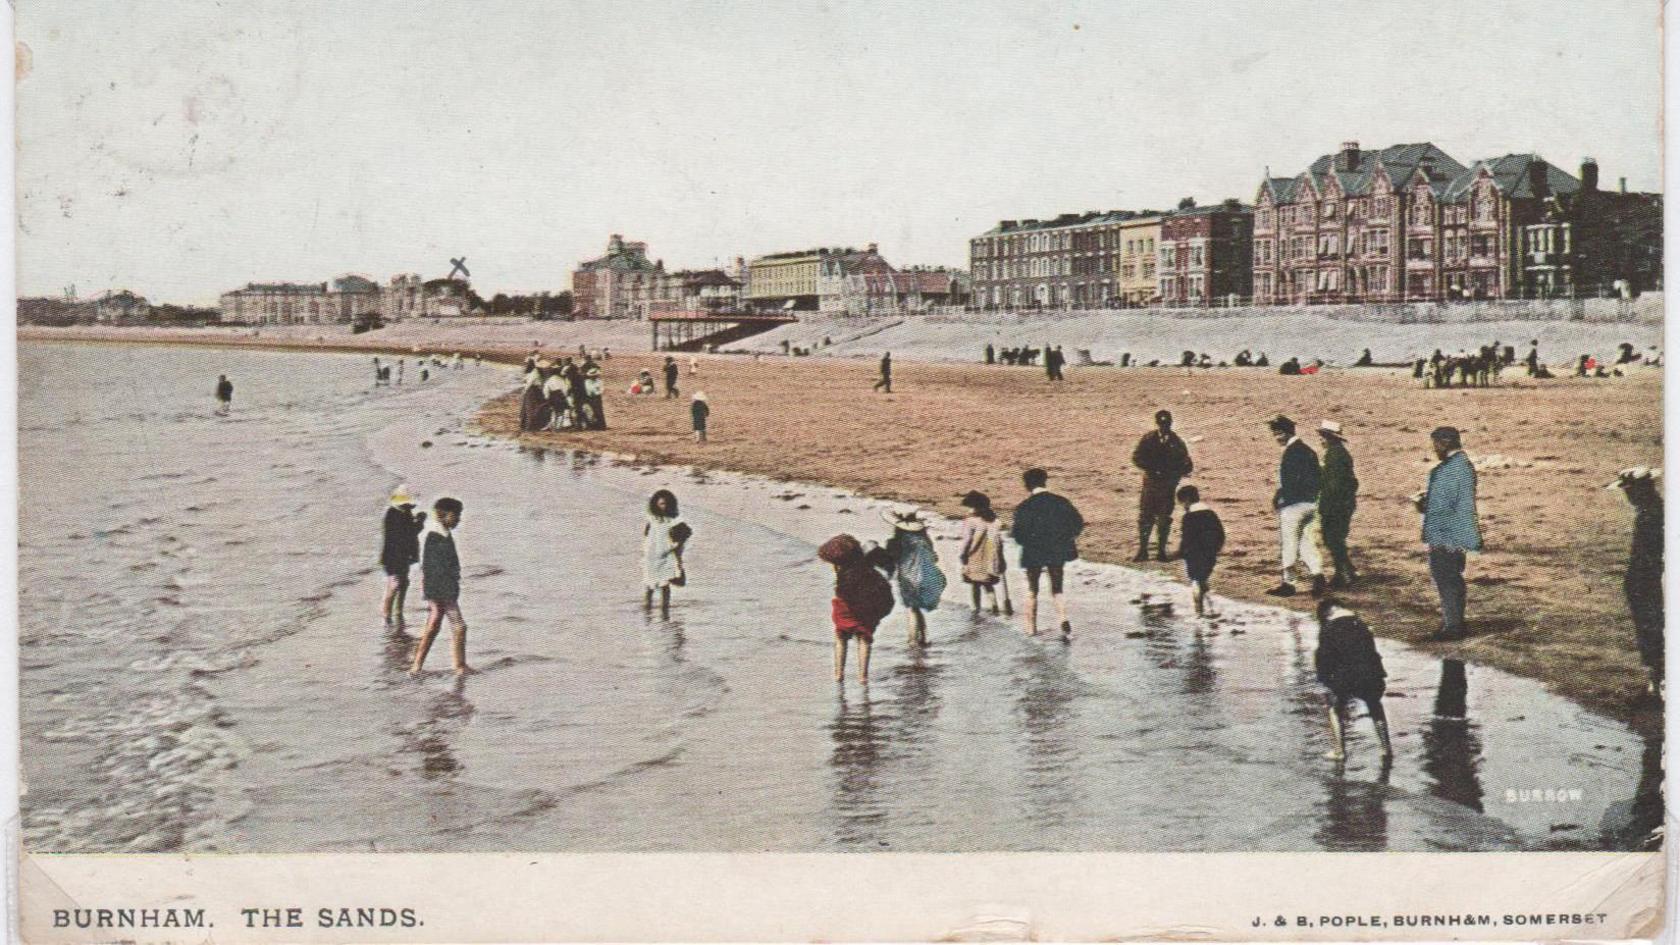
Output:
[[[948,516],[961,515],[968,489],[991,494],[1000,511],[1013,508],[1023,498],[1020,471],[1043,466],[1052,488],[1085,515],[1084,557],[1126,563],[1136,550],[1139,486],[1131,451],[1164,407],[1196,461],[1188,481],[1230,535],[1215,595],[1257,602],[1275,602],[1263,592],[1278,577],[1270,508],[1278,447],[1263,422],[1284,412],[1315,444],[1317,422],[1336,419],[1361,481],[1351,546],[1364,578],[1341,595],[1379,634],[1656,723],[1640,706],[1645,669],[1621,595],[1631,509],[1604,483],[1620,467],[1662,462],[1660,372],[1551,382],[1507,372],[1497,388],[1423,390],[1396,370],[1290,378],[1236,368],[1068,368],[1067,382],[1052,385],[1042,368],[897,363],[894,393],[884,395],[870,392],[874,362],[702,356],[699,375],[689,375],[689,356],[679,360],[679,400],[628,395],[637,370],[657,368],[659,358],[618,356],[605,365],[610,430],[531,439],[830,484]],[[689,430],[694,390],[706,390],[712,405],[704,446]],[[1460,427],[1478,462],[1487,541],[1467,570],[1473,636],[1458,644],[1426,639],[1438,622],[1436,597],[1408,501],[1433,464],[1428,432],[1440,424]],[[514,395],[487,404],[479,425],[514,436]],[[1142,567],[1181,572],[1176,563]],[[1284,604],[1309,610],[1312,599]]]

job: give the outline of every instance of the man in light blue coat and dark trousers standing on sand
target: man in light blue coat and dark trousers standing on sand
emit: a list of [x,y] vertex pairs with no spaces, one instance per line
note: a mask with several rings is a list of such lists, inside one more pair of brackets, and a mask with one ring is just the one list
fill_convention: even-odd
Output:
[[1475,515],[1475,466],[1465,456],[1457,427],[1430,434],[1435,457],[1430,483],[1415,501],[1423,513],[1423,543],[1430,546],[1430,577],[1441,595],[1441,629],[1431,639],[1465,637],[1465,553],[1482,550]]

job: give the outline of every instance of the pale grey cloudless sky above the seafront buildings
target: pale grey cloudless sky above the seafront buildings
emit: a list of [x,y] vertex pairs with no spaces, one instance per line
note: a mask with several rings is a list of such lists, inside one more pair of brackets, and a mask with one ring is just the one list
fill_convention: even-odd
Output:
[[[1662,190],[1658,0],[15,0],[18,293],[559,291],[1252,200],[1356,140]],[[25,49],[27,47],[27,49]]]

